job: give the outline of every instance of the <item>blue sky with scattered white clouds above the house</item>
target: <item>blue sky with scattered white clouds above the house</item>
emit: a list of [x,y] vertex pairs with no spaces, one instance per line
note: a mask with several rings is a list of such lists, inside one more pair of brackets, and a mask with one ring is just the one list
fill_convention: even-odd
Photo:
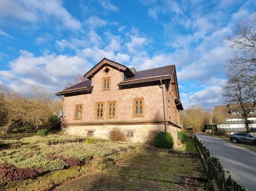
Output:
[[176,65],[183,107],[223,104],[225,38],[255,0],[0,0],[0,84],[56,93],[103,57]]

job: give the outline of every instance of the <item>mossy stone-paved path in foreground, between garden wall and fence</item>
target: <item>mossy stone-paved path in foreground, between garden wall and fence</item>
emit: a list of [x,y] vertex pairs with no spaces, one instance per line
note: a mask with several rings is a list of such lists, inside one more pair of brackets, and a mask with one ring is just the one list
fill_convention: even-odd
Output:
[[71,180],[54,191],[204,191],[209,190],[199,158],[135,154],[102,172]]

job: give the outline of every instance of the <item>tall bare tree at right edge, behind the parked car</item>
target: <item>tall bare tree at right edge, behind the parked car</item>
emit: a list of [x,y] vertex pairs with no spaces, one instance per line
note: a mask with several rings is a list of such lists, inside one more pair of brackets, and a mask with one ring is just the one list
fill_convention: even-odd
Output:
[[248,115],[256,106],[256,14],[242,20],[228,38],[233,57],[227,61],[227,81],[222,87],[226,103],[238,104],[249,132]]

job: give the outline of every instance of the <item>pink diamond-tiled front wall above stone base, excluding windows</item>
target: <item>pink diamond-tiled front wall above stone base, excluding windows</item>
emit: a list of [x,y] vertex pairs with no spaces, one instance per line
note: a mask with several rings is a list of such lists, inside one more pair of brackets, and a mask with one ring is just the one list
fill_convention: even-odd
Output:
[[[110,68],[110,67],[109,67]],[[163,96],[159,85],[137,87],[118,90],[117,84],[122,81],[122,72],[111,68],[106,74],[101,69],[93,78],[93,90],[89,94],[76,95],[64,98],[64,122],[113,122],[113,121],[141,121],[163,120]],[[103,77],[111,77],[111,90],[102,91]],[[144,98],[145,117],[132,117],[132,99]],[[117,101],[115,119],[107,119],[107,101]],[[95,119],[95,103],[105,102],[104,119]],[[82,120],[74,120],[74,107],[83,104]]]

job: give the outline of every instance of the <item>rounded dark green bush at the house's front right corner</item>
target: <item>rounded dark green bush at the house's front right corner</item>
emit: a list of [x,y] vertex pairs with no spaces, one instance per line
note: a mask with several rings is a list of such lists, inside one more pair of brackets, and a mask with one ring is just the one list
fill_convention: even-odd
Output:
[[157,148],[171,149],[173,144],[173,138],[170,133],[158,132],[156,134],[154,145]]

